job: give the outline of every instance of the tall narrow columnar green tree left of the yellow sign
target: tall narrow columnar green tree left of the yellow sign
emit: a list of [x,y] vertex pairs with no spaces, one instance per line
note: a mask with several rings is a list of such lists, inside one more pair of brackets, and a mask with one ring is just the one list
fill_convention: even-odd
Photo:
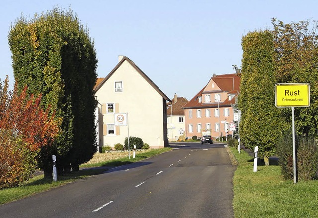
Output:
[[280,110],[275,107],[274,45],[270,31],[250,32],[242,39],[243,59],[238,99],[240,135],[245,147],[268,164],[280,137]]

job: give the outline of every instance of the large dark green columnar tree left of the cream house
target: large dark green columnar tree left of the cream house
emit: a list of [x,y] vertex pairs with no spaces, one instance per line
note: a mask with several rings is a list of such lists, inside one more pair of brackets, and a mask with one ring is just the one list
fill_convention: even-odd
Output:
[[52,154],[58,172],[91,159],[97,151],[94,110],[97,59],[94,42],[72,10],[54,8],[27,20],[21,17],[9,32],[15,81],[21,91],[42,94],[41,105],[61,119],[59,138],[40,152],[39,165],[52,175]]

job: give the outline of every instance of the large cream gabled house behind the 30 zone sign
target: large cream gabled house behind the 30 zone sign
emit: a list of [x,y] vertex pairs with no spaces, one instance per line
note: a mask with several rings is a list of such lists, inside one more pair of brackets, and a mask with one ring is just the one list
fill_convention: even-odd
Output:
[[[99,148],[124,144],[128,133],[151,148],[168,145],[166,109],[171,100],[133,61],[119,56],[119,63],[97,80],[95,89]],[[117,113],[126,114],[128,125],[115,126]]]

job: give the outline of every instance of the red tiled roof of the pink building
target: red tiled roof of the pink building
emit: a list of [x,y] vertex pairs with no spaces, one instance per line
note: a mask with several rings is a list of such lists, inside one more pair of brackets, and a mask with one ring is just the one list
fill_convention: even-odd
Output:
[[[214,108],[218,107],[218,102],[215,102],[211,99],[211,102],[206,103],[201,99],[201,102],[198,101],[198,97],[202,98],[202,94],[206,93],[220,93],[226,92],[227,94],[239,94],[239,85],[240,85],[240,77],[236,74],[222,74],[211,77],[210,80],[213,80],[215,84],[220,88],[220,90],[216,91],[208,91],[204,92],[207,85],[205,85],[187,104],[183,106],[183,109],[196,109],[196,108]],[[229,100],[225,99],[224,102],[219,102],[219,107],[229,107],[231,104],[235,103],[235,98]]]

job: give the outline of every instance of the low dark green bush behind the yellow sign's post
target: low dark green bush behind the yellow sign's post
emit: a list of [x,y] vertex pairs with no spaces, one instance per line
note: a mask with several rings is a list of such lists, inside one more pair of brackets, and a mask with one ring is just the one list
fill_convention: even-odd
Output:
[[[311,137],[299,137],[296,141],[297,171],[299,180],[312,180],[318,172],[318,144]],[[293,141],[291,135],[281,137],[277,143],[277,155],[285,179],[293,179]]]

